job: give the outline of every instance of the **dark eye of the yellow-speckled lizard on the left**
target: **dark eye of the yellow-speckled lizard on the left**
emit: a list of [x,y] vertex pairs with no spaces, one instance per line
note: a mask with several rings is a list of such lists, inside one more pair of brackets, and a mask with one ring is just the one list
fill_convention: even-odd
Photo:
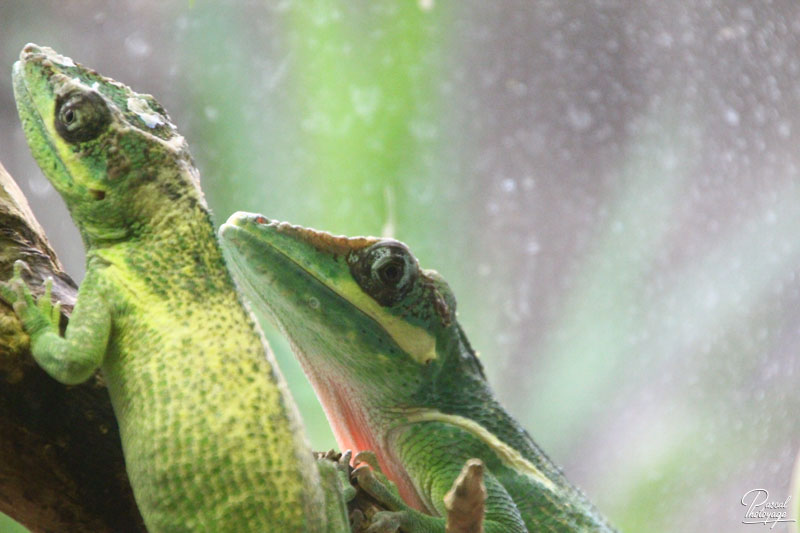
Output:
[[67,142],[91,141],[110,122],[108,106],[94,91],[67,94],[56,101],[56,131]]

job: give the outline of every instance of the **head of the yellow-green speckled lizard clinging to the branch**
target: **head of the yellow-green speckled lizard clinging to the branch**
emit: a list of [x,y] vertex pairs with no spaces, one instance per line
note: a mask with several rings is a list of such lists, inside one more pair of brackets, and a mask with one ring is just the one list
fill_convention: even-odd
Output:
[[33,156],[84,240],[128,236],[165,204],[155,196],[204,207],[186,142],[152,96],[34,44],[13,79]]

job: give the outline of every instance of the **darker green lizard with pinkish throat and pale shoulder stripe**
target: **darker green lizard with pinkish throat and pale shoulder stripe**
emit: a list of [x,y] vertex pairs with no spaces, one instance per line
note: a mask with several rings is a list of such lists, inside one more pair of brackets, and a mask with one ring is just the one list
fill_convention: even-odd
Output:
[[249,213],[231,216],[221,236],[245,294],[293,345],[339,445],[374,450],[377,463],[362,454],[374,468],[355,472],[391,510],[374,531],[444,532],[443,497],[471,457],[486,465],[487,532],[612,531],[494,399],[450,288],[404,244]]

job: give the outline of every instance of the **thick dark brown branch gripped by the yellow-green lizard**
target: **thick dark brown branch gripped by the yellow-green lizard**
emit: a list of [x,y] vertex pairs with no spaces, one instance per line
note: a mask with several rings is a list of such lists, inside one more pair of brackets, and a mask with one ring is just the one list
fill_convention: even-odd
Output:
[[[52,276],[66,319],[77,287],[64,273],[25,197],[0,164],[0,279],[14,261],[41,291]],[[0,302],[0,511],[34,533],[144,532],[133,500],[117,423],[99,376],[67,387],[47,376],[28,336]]]

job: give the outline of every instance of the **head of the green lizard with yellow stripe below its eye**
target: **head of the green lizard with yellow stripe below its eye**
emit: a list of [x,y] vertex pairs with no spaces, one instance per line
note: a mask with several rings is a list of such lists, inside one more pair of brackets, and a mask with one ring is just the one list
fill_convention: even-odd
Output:
[[243,290],[283,329],[312,381],[357,384],[354,394],[372,391],[365,403],[391,407],[413,405],[443,370],[481,374],[450,287],[405,244],[249,213],[232,215],[221,240]]

